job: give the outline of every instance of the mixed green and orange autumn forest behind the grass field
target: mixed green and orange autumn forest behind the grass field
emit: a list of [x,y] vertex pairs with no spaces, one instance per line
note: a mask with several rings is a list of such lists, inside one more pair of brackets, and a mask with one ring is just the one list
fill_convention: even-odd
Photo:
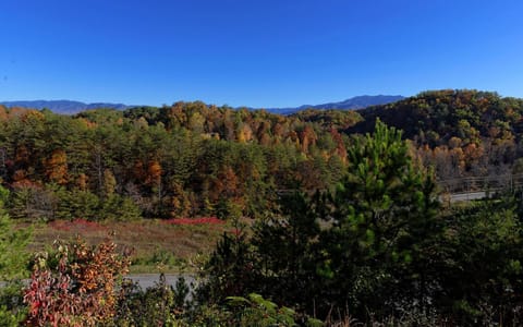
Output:
[[255,217],[279,190],[327,189],[346,164],[338,126],[203,102],[76,116],[0,107],[12,217]]

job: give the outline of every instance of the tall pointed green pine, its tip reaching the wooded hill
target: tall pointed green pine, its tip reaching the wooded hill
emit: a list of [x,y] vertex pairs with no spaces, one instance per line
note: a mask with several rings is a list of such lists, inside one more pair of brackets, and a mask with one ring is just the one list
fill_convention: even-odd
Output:
[[332,226],[320,238],[327,298],[362,316],[392,314],[402,301],[423,305],[430,240],[439,233],[431,174],[413,162],[401,132],[379,120],[348,152],[348,174],[326,217]]

